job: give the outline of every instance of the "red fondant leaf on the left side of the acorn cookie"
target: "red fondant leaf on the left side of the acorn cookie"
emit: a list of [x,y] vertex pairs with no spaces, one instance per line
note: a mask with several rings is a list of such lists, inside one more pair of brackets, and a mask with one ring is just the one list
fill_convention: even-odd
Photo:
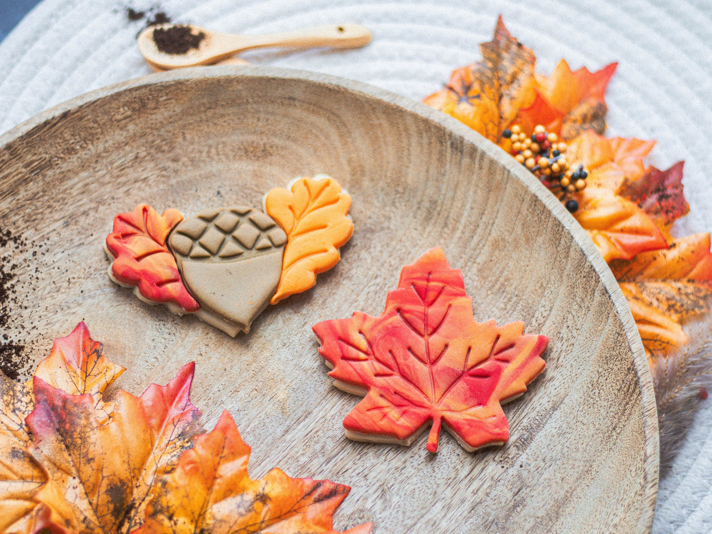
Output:
[[175,258],[168,250],[168,234],[183,216],[177,209],[159,215],[147,204],[130,213],[118,214],[106,238],[106,251],[113,258],[112,280],[134,287],[134,293],[149,303],[165,303],[180,313],[198,310],[198,303],[183,285]]

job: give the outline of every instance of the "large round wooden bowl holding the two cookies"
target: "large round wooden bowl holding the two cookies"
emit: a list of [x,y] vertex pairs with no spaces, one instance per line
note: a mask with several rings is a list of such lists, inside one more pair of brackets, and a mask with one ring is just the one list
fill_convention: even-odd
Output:
[[[85,320],[140,394],[197,362],[212,428],[229,409],[251,476],[352,486],[339,528],[375,533],[645,532],[658,476],[656,407],[622,294],[561,204],[498,147],[450,117],[361,83],[273,68],[197,68],[75,98],[0,137],[0,221],[18,256],[33,357]],[[342,261],[306,293],[228,337],[106,276],[115,214],[147,202],[186,215],[260,205],[268,189],[326,173],[352,194]],[[378,315],[402,266],[441,246],[478,320],[550,337],[547,368],[506,405],[511,438],[468,453],[441,435],[409,448],[344,436],[359,398],[327,376],[311,325]],[[46,251],[31,258],[32,250]],[[22,335],[19,326],[14,333]]]

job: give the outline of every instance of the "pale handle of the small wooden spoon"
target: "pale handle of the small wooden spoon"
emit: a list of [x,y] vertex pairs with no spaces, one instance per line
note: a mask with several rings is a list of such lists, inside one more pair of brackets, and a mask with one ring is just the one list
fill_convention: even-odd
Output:
[[[232,37],[232,36],[231,36]],[[284,48],[358,48],[371,41],[371,32],[360,24],[331,24],[295,31],[268,33],[260,36],[234,36],[230,39],[234,51],[277,46]]]

